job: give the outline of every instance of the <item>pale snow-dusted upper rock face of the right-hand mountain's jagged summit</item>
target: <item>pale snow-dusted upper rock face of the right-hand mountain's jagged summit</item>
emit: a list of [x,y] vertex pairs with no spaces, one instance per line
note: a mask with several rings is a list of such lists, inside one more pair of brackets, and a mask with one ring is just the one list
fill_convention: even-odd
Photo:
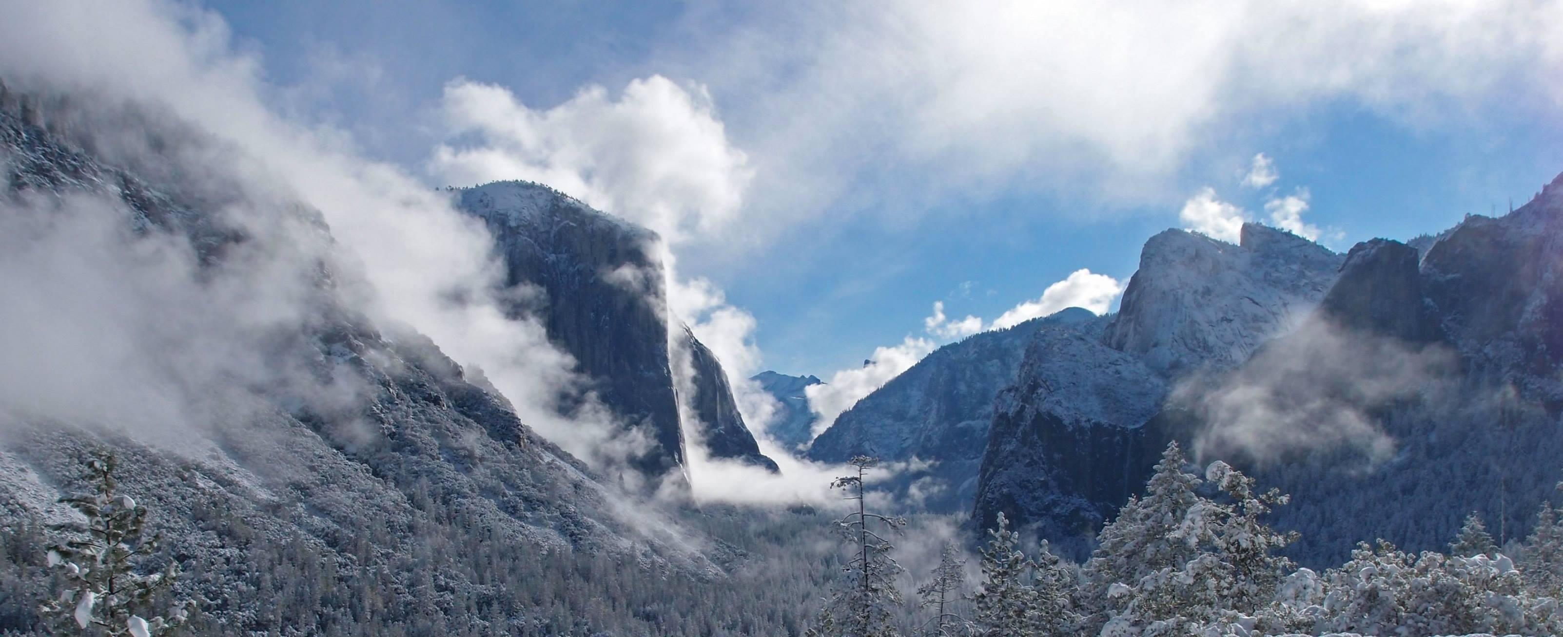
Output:
[[1291,233],[1243,225],[1239,245],[1168,230],[1139,253],[1108,347],[1175,376],[1230,368],[1307,315],[1341,256]]

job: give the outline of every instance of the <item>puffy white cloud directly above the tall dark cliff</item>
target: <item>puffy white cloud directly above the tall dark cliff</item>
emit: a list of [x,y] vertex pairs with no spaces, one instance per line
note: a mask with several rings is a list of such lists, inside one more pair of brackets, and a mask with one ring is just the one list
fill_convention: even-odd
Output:
[[588,86],[545,111],[502,86],[456,80],[442,114],[452,134],[477,142],[439,145],[435,175],[458,186],[544,183],[672,244],[730,230],[753,176],[706,89],[661,75],[631,80],[617,100]]

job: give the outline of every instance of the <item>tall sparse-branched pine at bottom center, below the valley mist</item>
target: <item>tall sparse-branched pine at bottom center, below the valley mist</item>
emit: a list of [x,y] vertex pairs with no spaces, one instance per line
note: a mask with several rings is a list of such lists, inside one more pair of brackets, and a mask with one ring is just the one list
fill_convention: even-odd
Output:
[[896,589],[896,576],[902,568],[889,556],[894,545],[889,539],[874,531],[892,532],[907,526],[902,517],[880,515],[867,511],[864,498],[864,482],[867,472],[878,464],[878,459],[853,456],[847,461],[857,472],[850,476],[836,478],[832,489],[847,490],[846,500],[855,500],[858,511],[835,521],[836,532],[852,545],[852,557],[841,565],[846,575],[835,595],[825,601],[814,626],[808,629],[811,637],[899,637],[896,612],[900,609],[900,590]]

